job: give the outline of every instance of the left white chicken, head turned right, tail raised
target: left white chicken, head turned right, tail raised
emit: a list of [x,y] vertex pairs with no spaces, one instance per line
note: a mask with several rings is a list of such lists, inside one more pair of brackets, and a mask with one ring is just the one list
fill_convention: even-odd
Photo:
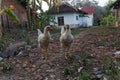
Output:
[[47,48],[51,40],[50,30],[52,30],[52,26],[46,26],[43,33],[38,29],[38,48],[42,53],[43,59],[47,59],[48,56]]

